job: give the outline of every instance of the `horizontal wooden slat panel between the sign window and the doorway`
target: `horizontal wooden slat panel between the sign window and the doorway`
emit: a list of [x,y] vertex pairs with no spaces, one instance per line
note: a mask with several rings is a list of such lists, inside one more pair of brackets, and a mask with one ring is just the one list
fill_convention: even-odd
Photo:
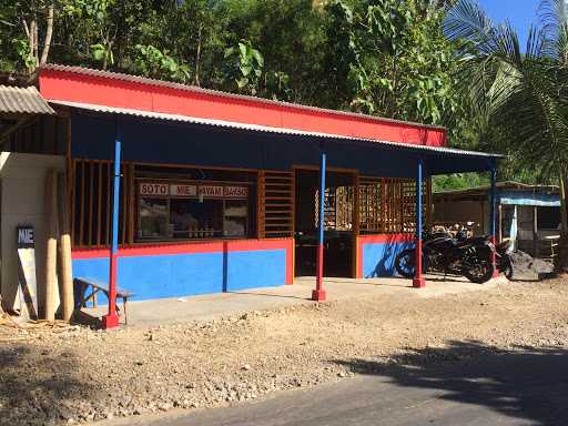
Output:
[[294,234],[294,173],[258,172],[257,230],[258,237]]

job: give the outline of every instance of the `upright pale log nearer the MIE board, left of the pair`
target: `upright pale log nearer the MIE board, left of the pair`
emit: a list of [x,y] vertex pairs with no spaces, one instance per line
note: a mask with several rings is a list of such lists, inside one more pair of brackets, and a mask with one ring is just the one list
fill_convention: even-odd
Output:
[[48,321],[55,321],[57,255],[58,255],[58,179],[57,171],[50,170],[45,179],[45,311]]

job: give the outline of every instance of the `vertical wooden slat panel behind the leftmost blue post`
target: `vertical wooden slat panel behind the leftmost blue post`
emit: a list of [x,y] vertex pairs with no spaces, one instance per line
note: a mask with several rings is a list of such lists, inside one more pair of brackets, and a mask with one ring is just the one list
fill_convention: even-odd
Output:
[[[73,160],[71,165],[71,237],[73,247],[105,247],[111,243],[113,163]],[[133,164],[121,164],[119,244],[134,236]]]

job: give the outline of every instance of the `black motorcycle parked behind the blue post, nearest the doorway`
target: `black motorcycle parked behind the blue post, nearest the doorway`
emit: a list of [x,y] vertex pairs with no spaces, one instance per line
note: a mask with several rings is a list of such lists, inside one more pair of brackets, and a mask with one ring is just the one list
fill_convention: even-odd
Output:
[[[467,237],[460,230],[456,237],[448,232],[426,232],[423,240],[423,268],[464,275],[474,283],[485,283],[493,277],[494,266],[490,255],[495,246],[487,237]],[[395,258],[395,268],[405,277],[415,275],[415,250],[400,252]]]

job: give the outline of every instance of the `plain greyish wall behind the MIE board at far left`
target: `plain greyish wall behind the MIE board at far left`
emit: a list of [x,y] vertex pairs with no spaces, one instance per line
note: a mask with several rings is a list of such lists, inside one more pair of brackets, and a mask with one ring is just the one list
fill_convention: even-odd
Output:
[[3,304],[11,307],[18,290],[16,229],[32,225],[36,236],[38,303],[43,306],[45,253],[45,175],[65,170],[63,155],[0,153],[0,288]]

